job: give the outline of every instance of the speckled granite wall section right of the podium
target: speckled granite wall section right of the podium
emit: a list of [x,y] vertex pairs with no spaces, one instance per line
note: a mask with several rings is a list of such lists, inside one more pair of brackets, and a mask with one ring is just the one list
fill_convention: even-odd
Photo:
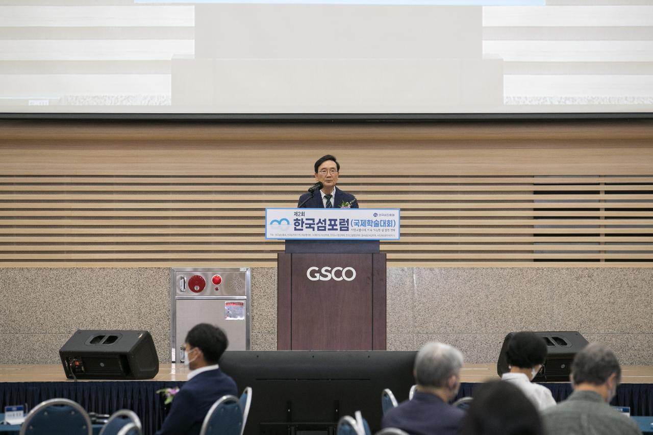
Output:
[[507,332],[579,330],[650,365],[652,288],[651,268],[389,268],[388,348],[437,340],[496,362]]

